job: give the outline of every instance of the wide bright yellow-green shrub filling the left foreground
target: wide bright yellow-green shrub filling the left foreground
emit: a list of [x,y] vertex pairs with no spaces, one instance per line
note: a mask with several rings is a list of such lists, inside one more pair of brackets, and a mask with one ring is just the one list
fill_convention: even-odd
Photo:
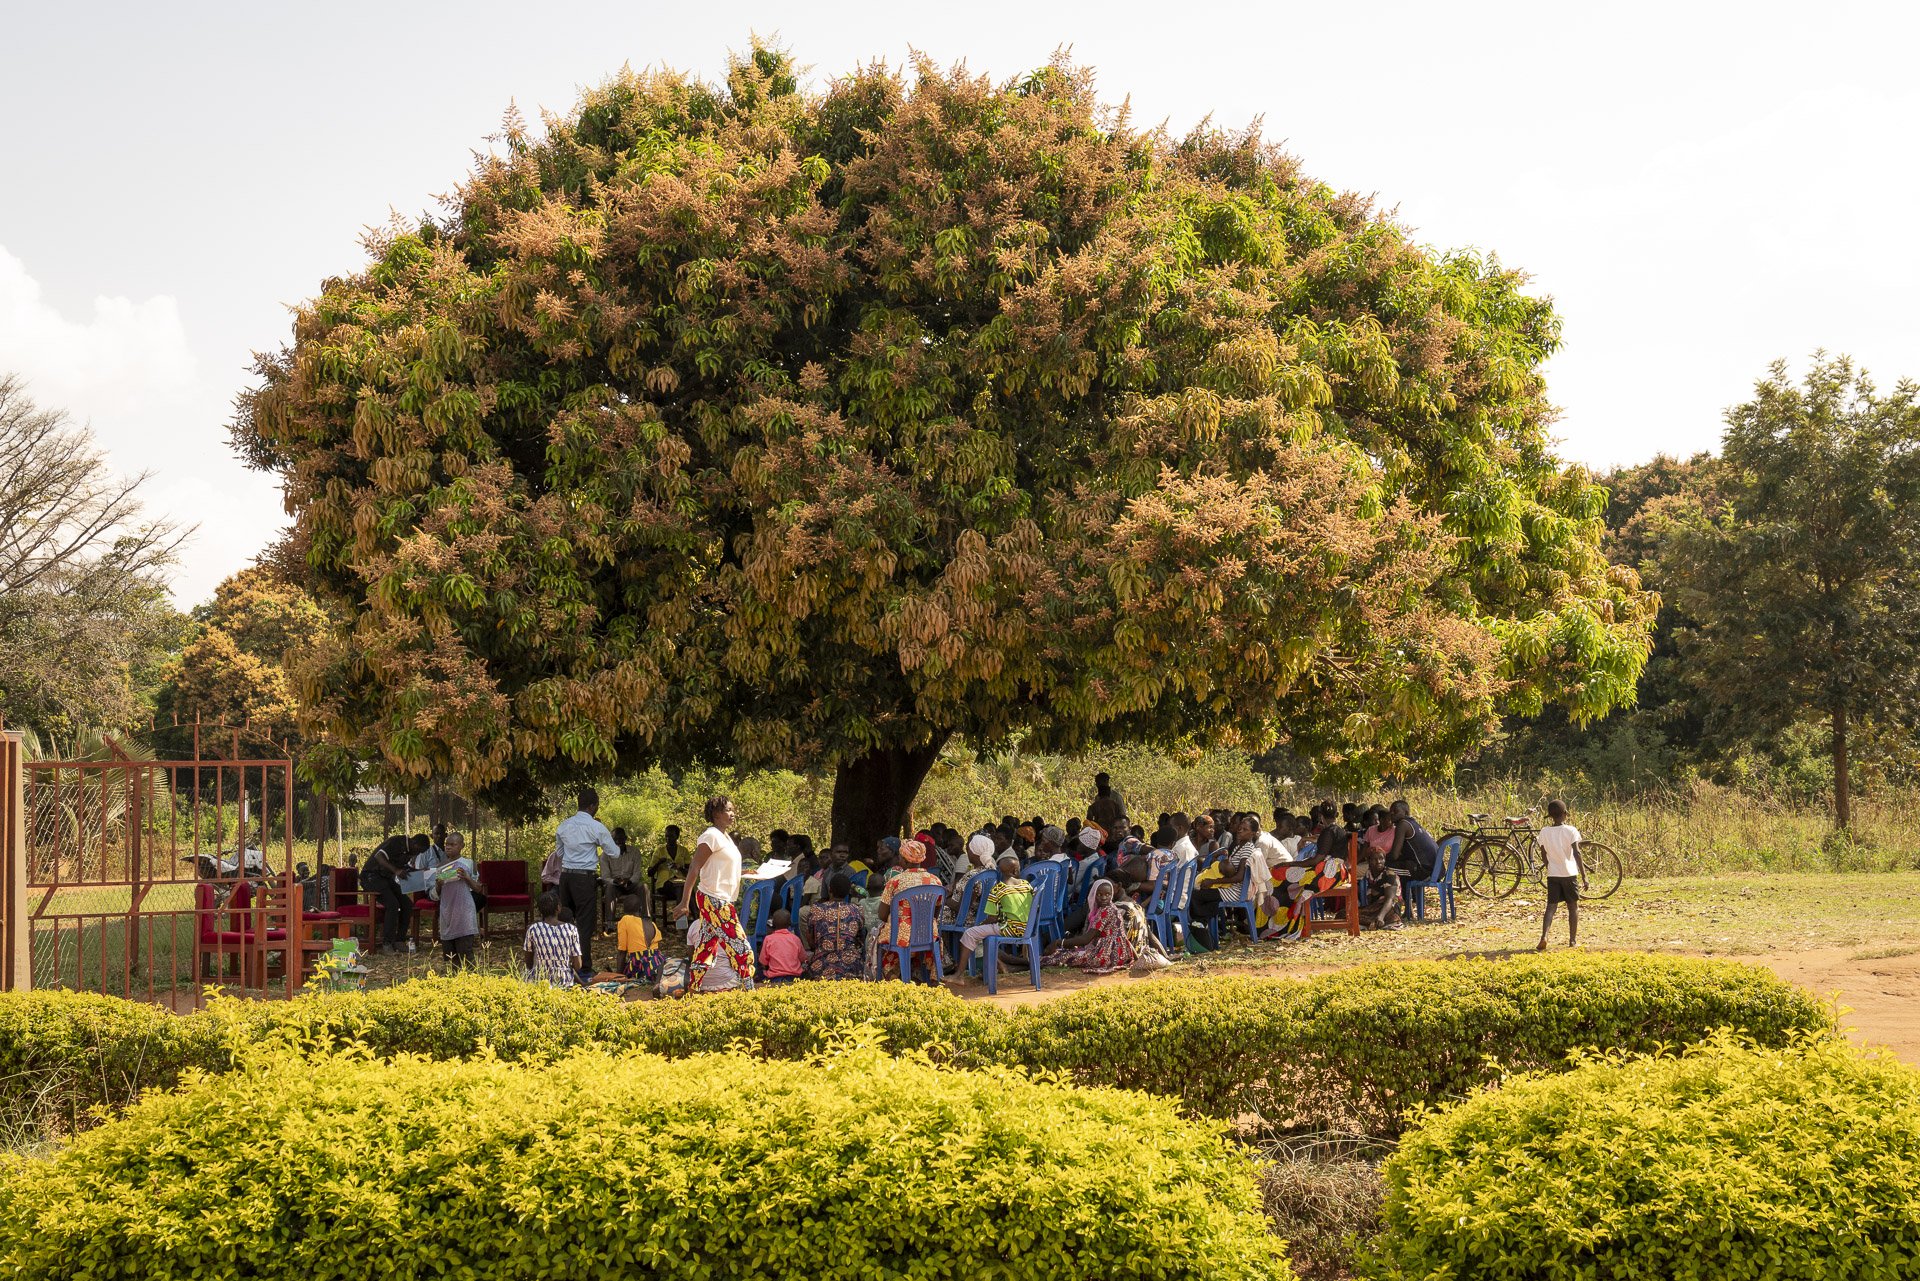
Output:
[[1288,1277],[1171,1102],[856,1045],[265,1052],[0,1175],[0,1275]]

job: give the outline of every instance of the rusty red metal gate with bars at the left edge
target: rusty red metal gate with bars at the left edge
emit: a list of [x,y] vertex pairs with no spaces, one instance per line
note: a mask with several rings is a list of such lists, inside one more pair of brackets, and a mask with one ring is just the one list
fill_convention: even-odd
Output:
[[292,762],[23,762],[4,737],[0,981],[198,1004],[217,905],[250,862],[292,866]]

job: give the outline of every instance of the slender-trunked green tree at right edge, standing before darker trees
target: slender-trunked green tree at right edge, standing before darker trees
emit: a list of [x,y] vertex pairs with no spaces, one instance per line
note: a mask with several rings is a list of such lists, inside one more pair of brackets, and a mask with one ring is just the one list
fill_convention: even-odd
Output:
[[[1713,507],[1663,540],[1709,730],[1828,722],[1834,820],[1849,820],[1849,743],[1862,722],[1920,714],[1920,386],[1880,396],[1847,357],[1795,384],[1774,363],[1726,415]],[[1718,722],[1718,726],[1716,726]]]

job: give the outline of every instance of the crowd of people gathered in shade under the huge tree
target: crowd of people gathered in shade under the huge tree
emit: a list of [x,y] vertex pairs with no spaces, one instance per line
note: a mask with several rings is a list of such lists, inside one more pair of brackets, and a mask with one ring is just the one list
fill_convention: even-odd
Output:
[[[1350,885],[1365,928],[1398,930],[1402,882],[1428,878],[1440,857],[1405,801],[1321,801],[1306,814],[1281,809],[1271,830],[1250,810],[1167,812],[1146,832],[1129,820],[1104,774],[1094,786],[1085,818],[1056,824],[1006,814],[973,832],[933,822],[912,837],[883,837],[868,853],[845,843],[816,851],[808,835],[776,830],[764,858],[760,841],[732,834],[733,805],[716,797],[685,862],[680,830],[668,828],[662,855],[645,864],[626,832],[601,826],[599,797],[588,787],[578,812],[557,828],[520,960],[528,978],[553,985],[624,991],[660,983],[670,995],[756,979],[879,979],[899,974],[889,945],[904,947],[912,937],[914,905],[902,899],[895,912],[895,899],[935,887],[943,970],[948,981],[966,983],[991,939],[1029,930],[1043,880],[1035,864],[1056,864],[1058,874],[1044,880],[1058,887],[1048,918],[1058,928],[1046,933],[1043,960],[1110,974],[1167,964],[1167,947],[1212,951],[1223,926],[1261,941],[1300,939],[1315,895]],[[396,837],[363,868],[374,882],[369,889],[392,880],[396,906],[409,891],[440,901],[438,933],[453,966],[470,958],[478,933],[470,920],[478,883],[457,841],[459,834],[440,832],[432,841]],[[743,920],[747,887],[762,868],[778,872],[780,906],[762,920]],[[975,876],[981,880],[970,895]],[[678,903],[674,928],[685,931],[685,962],[666,958],[664,930],[655,922],[668,903]],[[1165,926],[1156,930],[1150,914]],[[403,922],[401,910],[382,922],[390,945],[403,937]],[[611,970],[593,962],[601,922],[614,941]],[[916,955],[912,966],[910,978],[931,979],[931,955]]]

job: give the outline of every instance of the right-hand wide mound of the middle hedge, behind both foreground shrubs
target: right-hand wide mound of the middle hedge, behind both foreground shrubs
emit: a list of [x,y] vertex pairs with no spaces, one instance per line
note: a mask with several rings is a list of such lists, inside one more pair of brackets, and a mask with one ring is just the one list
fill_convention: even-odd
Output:
[[1258,1129],[1392,1137],[1411,1106],[1563,1066],[1574,1049],[1655,1054],[1716,1027],[1782,1045],[1832,1016],[1755,966],[1557,953],[1094,987],[1018,1010],[1008,1045],[1025,1066]]

